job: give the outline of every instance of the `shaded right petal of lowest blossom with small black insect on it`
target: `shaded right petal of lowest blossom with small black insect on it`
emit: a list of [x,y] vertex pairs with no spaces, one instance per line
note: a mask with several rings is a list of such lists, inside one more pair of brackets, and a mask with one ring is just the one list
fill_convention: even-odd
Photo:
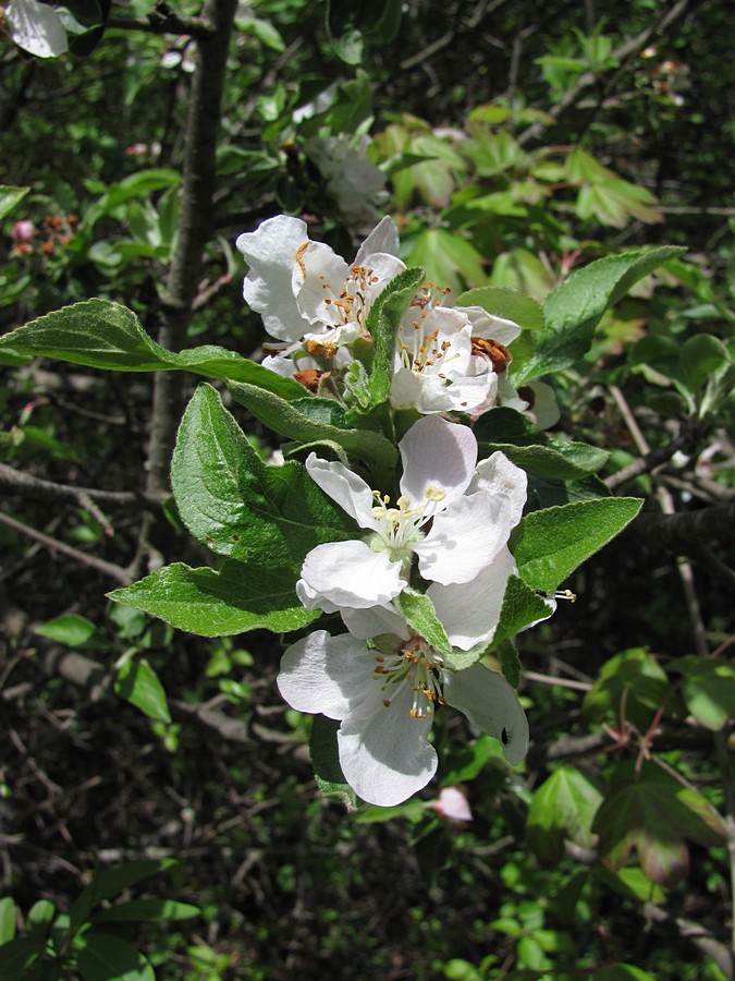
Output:
[[477,729],[500,739],[509,763],[520,763],[528,751],[528,719],[505,678],[483,664],[474,664],[451,676],[444,685],[444,699]]

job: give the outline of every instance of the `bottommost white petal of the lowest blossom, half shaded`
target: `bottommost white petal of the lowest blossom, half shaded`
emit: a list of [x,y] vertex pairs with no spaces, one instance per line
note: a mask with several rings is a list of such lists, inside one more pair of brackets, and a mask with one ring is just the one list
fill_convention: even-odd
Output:
[[437,771],[437,753],[427,742],[431,716],[411,715],[413,692],[404,685],[389,707],[390,694],[378,682],[344,718],[338,732],[340,763],[350,786],[371,804],[390,808],[416,794]]

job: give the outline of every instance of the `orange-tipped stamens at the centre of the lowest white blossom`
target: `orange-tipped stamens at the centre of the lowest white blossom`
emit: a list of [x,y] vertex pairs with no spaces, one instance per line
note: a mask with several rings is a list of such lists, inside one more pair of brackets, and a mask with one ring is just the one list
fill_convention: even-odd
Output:
[[443,705],[441,670],[443,661],[422,638],[413,638],[408,645],[392,656],[376,654],[375,680],[381,682],[383,705],[390,708],[406,686],[413,693],[408,714],[426,718],[434,705]]

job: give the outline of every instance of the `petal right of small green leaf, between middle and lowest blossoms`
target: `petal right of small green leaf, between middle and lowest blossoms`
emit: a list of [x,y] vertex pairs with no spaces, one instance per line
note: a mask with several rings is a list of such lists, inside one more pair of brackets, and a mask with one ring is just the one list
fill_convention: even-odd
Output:
[[495,632],[507,579],[516,571],[507,548],[500,553],[469,582],[427,590],[453,647],[468,651],[475,644],[489,643]]

